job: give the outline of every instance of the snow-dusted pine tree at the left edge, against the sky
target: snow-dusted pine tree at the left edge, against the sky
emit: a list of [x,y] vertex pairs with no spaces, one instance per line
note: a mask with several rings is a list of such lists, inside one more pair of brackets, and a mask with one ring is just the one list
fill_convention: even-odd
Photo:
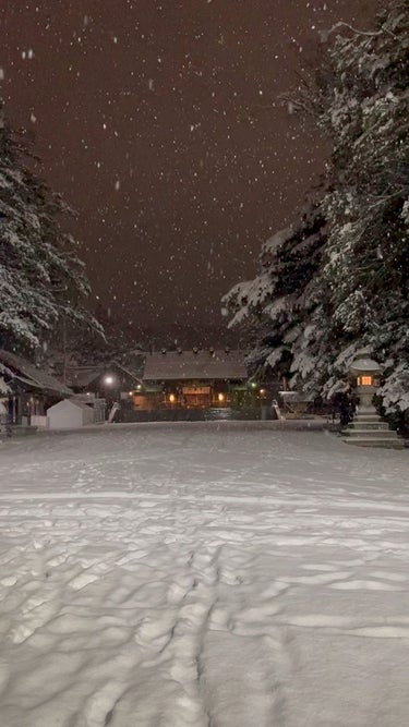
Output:
[[64,318],[98,326],[82,301],[89,292],[69,211],[29,169],[24,144],[0,119],[0,346],[32,351]]

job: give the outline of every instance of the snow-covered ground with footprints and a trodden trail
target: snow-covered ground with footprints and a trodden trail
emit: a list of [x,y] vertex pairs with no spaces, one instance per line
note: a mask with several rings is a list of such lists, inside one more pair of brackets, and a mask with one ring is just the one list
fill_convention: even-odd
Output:
[[1,727],[406,727],[409,452],[268,423],[0,445]]

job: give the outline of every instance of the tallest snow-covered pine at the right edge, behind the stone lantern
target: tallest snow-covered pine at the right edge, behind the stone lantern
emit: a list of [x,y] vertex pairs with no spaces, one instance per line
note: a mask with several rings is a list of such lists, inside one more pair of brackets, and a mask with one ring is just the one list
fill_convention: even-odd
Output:
[[[333,153],[323,202],[328,240],[320,272],[330,290],[333,365],[357,348],[385,364],[388,411],[409,409],[409,5],[392,2],[373,32],[341,26],[322,78],[318,123]],[[339,28],[340,29],[340,28]]]

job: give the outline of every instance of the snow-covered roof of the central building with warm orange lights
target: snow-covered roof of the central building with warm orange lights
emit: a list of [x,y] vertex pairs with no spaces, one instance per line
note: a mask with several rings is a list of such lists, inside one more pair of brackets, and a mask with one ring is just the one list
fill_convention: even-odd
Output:
[[146,356],[144,381],[245,379],[243,351],[167,351]]

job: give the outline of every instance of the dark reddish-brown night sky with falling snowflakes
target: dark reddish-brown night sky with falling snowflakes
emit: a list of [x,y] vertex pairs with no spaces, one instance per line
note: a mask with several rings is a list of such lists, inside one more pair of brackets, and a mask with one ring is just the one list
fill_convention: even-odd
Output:
[[224,325],[220,295],[324,167],[277,97],[320,31],[365,27],[375,4],[1,0],[7,112],[79,211],[94,301],[142,326]]

